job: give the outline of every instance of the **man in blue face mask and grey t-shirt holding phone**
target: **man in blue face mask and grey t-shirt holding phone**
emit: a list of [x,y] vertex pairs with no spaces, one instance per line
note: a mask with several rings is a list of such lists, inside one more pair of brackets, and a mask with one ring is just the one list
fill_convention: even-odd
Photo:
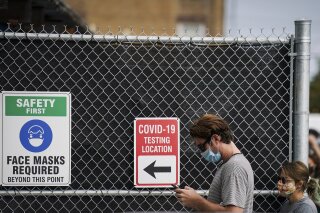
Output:
[[190,136],[207,161],[223,164],[211,183],[208,199],[191,187],[176,189],[179,201],[198,211],[252,212],[254,177],[249,161],[236,147],[228,123],[217,115],[205,114],[194,121]]

